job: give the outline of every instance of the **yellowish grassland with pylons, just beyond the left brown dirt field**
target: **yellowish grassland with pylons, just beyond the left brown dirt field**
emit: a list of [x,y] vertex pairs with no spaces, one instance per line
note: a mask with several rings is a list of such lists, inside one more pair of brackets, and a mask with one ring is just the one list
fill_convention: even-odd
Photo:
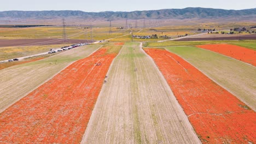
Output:
[[[0,28],[0,39],[60,39],[62,38],[63,28],[61,26],[49,27],[30,27],[30,28]],[[103,40],[118,37],[130,33],[126,29],[109,27],[93,27],[92,38],[91,29],[84,27],[66,27],[66,37],[68,39],[95,39]]]

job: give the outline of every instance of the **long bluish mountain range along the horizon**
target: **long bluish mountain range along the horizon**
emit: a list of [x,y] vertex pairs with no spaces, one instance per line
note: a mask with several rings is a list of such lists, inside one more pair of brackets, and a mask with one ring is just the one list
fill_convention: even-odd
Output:
[[224,10],[212,8],[185,8],[185,9],[161,9],[143,11],[103,11],[88,13],[79,10],[49,10],[49,11],[0,11],[0,18],[36,18],[51,19],[58,17],[78,17],[82,19],[192,19],[192,18],[224,18],[256,15],[256,8],[244,10]]

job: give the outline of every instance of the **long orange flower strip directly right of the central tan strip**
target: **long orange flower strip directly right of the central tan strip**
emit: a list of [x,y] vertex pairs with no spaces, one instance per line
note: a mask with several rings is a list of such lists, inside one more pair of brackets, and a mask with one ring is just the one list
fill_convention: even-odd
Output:
[[255,143],[256,114],[181,57],[145,49],[203,143]]

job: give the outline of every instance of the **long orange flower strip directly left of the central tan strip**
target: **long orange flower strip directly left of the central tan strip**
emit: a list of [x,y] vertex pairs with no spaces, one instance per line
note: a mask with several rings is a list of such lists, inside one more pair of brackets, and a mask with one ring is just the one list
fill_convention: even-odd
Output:
[[74,62],[3,111],[0,142],[79,143],[104,76],[117,55],[111,49],[103,47]]

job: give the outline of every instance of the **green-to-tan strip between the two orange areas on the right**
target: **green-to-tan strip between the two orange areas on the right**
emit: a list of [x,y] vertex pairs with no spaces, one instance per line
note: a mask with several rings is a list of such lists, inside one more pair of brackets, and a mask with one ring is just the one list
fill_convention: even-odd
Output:
[[191,46],[166,47],[256,110],[256,68],[235,59]]

